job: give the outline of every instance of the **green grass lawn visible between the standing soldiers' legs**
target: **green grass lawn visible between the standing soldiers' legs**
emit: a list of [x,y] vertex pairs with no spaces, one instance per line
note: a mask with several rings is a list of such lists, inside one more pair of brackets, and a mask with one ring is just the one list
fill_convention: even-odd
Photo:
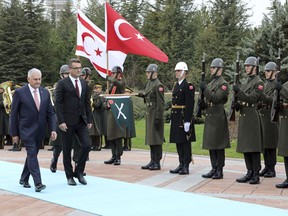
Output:
[[[150,149],[149,146],[145,145],[145,120],[135,121],[136,127],[136,137],[132,139],[132,148],[138,149]],[[202,149],[202,139],[203,139],[203,128],[204,124],[196,124],[196,142],[192,143],[192,153],[194,155],[209,155],[208,150]],[[169,143],[170,134],[170,124],[165,123],[164,136],[166,143],[163,146],[164,151],[167,152],[177,152],[176,145],[174,143]],[[236,140],[231,140],[231,148],[226,149],[227,158],[243,158],[243,154],[236,152]],[[282,157],[278,157],[278,161],[283,162]]]

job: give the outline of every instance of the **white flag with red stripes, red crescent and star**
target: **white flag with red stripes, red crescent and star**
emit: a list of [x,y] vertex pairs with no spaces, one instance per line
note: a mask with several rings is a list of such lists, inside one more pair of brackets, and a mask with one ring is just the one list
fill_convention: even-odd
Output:
[[[80,10],[77,14],[77,47],[76,55],[88,58],[98,73],[107,76],[107,54],[105,33],[93,24]],[[126,54],[120,51],[109,51],[109,74],[114,66],[122,67]]]

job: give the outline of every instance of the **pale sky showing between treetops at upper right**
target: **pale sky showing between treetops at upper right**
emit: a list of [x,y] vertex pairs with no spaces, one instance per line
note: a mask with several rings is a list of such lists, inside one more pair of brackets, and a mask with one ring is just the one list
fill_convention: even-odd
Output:
[[[252,11],[251,14],[252,16],[249,19],[249,23],[256,27],[261,25],[261,21],[263,18],[263,14],[267,14],[268,15],[268,9],[267,7],[271,6],[271,0],[242,0],[245,3],[248,3],[248,8],[251,8]],[[195,4],[196,5],[201,5],[202,2],[208,2],[208,0],[195,0]],[[285,0],[281,0],[281,3],[283,5],[283,3],[285,2]]]

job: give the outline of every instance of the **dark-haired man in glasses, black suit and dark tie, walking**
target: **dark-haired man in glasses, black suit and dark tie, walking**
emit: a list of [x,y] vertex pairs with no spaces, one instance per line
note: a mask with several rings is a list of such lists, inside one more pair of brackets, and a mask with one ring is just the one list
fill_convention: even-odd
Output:
[[[79,79],[82,74],[80,60],[73,58],[69,63],[69,77],[60,80],[56,87],[55,108],[63,143],[63,163],[68,185],[76,185],[74,176],[86,185],[83,177],[90,151],[88,129],[92,126],[90,94],[87,82]],[[81,144],[77,164],[73,172],[71,164],[72,137],[76,135]]]

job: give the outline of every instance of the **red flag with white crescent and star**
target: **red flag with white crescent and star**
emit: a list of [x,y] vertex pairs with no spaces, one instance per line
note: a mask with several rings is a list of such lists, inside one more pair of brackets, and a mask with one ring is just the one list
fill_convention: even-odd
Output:
[[119,50],[168,62],[168,56],[145,38],[137,29],[118,14],[107,2],[106,44],[107,50]]

